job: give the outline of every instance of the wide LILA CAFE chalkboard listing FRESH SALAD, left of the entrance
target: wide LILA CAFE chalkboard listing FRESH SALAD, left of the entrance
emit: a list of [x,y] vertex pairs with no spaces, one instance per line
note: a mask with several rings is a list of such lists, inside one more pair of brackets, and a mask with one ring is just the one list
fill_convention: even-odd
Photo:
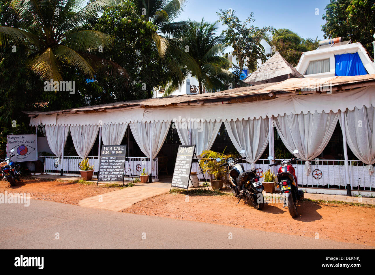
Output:
[[124,181],[126,145],[102,146],[98,181]]

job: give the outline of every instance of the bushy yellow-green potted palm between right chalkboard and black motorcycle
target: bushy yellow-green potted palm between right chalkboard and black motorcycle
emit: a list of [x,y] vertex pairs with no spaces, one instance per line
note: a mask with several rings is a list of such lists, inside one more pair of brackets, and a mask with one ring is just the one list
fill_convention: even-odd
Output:
[[[199,164],[203,172],[210,175],[212,189],[222,189],[226,178],[226,169],[220,167],[220,165],[224,164],[225,159],[233,157],[233,155],[224,155],[224,152],[217,153],[211,150],[203,150],[202,155],[204,157],[199,159]],[[217,161],[217,159],[220,159],[220,161]]]

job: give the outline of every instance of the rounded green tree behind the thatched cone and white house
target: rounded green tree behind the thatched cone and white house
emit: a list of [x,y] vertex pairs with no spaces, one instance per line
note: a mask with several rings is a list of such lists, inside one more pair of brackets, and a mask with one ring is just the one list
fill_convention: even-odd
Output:
[[272,39],[268,39],[268,42],[293,67],[296,67],[303,52],[315,50],[319,46],[318,38],[315,40],[311,38],[303,39],[289,29],[276,30]]

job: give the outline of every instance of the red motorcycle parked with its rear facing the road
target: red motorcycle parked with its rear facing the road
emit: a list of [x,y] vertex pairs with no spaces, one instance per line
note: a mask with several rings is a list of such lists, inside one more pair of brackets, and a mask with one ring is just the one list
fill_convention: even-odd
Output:
[[[293,156],[297,154],[298,149],[293,151]],[[274,160],[273,156],[268,157]],[[281,165],[278,174],[276,174],[279,192],[283,199],[284,207],[288,207],[289,214],[293,218],[298,216],[297,203],[303,198],[302,190],[298,190],[296,170],[293,167],[293,161],[300,158],[283,159],[282,162],[275,162],[270,166]]]

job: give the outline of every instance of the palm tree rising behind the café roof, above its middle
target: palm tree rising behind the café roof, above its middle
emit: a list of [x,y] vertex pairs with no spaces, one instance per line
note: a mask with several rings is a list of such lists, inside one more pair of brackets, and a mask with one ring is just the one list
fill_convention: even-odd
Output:
[[[175,45],[183,49],[189,59],[179,62],[180,70],[186,79],[188,74],[198,79],[199,94],[202,94],[203,87],[210,91],[220,86],[223,82],[229,82],[233,75],[223,69],[228,67],[230,61],[221,56],[226,48],[224,36],[216,35],[216,24],[205,22],[187,21],[187,27],[180,33],[180,38],[175,39]],[[164,95],[170,95],[175,89],[181,86],[178,78],[172,79],[165,89]]]

